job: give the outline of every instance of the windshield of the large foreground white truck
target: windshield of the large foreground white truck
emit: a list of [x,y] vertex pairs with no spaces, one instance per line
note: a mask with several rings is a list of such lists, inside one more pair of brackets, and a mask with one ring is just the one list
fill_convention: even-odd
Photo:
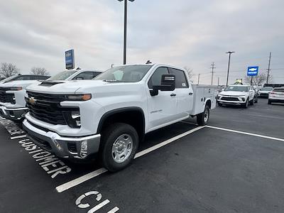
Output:
[[114,67],[98,75],[94,80],[105,80],[107,82],[138,82],[142,80],[151,67],[152,65]]

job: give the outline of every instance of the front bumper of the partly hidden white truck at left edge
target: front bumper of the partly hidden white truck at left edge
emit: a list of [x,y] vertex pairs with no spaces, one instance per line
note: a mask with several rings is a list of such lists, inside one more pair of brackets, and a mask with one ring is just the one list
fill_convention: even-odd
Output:
[[0,115],[6,119],[12,121],[19,121],[25,117],[25,114],[28,112],[28,108],[6,108],[4,106],[0,107]]

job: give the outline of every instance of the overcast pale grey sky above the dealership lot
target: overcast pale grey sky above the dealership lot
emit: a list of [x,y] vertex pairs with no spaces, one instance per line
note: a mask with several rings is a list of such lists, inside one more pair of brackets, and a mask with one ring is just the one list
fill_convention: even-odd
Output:
[[[191,67],[193,80],[226,83],[246,75],[249,65],[268,68],[284,83],[283,0],[129,1],[127,62],[163,62]],[[75,65],[107,70],[123,62],[124,4],[117,0],[0,0],[0,62],[21,73],[45,67],[65,69],[65,50],[75,49]]]

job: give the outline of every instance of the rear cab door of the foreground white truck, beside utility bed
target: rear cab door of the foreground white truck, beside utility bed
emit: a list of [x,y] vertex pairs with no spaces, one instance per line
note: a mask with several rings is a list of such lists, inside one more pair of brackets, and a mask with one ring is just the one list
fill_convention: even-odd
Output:
[[177,98],[177,115],[179,119],[188,116],[193,108],[193,91],[190,87],[185,71],[169,68],[170,73],[175,75],[175,94]]

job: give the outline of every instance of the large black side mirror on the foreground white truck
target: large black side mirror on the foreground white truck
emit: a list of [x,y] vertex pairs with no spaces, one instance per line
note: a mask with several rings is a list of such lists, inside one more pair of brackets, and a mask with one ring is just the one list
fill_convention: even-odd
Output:
[[158,95],[158,91],[173,91],[175,90],[175,75],[164,74],[160,80],[160,85],[153,85],[153,89],[150,90],[151,96]]

